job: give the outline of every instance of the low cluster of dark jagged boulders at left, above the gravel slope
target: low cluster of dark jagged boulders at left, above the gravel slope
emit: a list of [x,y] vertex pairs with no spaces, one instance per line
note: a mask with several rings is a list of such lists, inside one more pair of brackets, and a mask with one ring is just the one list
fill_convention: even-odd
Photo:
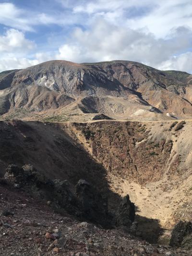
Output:
[[24,189],[32,196],[49,201],[54,208],[64,208],[68,212],[77,209],[76,198],[72,194],[67,181],[49,180],[41,175],[33,166],[18,167],[10,165],[4,175],[5,180],[16,187]]

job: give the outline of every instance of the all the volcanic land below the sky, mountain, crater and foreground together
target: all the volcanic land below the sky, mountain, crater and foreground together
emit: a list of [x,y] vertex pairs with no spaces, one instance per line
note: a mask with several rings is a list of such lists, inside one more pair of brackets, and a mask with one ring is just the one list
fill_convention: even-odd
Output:
[[0,255],[192,255],[191,74],[4,71],[0,119]]

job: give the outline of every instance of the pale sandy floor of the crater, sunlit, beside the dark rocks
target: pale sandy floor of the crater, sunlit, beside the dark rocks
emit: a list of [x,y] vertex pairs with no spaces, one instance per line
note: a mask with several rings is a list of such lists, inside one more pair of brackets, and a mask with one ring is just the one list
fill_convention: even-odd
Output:
[[[192,200],[192,192],[186,193],[186,188],[192,184],[190,176],[182,184],[170,185],[166,177],[158,182],[147,183],[145,186],[128,180],[113,177],[111,189],[118,190],[118,194],[129,194],[131,201],[137,207],[137,214],[148,219],[157,219],[162,228],[169,229],[175,224],[174,215],[180,207]],[[186,218],[182,214],[183,219]]]

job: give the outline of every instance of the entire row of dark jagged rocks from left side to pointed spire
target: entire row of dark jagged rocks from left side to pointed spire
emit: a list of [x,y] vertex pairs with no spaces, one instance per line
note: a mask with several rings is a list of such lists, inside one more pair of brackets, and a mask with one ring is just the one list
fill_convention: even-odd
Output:
[[[64,209],[72,215],[110,226],[112,217],[108,214],[108,200],[96,188],[85,180],[79,180],[76,185],[76,195],[67,181],[48,180],[40,175],[31,165],[18,167],[10,165],[4,175],[7,183],[18,185],[32,196],[41,198],[54,209]],[[117,225],[129,226],[134,219],[134,204],[128,197],[123,199]]]

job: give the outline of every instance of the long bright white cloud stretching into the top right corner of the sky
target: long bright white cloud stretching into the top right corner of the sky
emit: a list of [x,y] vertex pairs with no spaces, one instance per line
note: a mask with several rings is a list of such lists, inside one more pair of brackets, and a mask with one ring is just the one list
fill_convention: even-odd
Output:
[[87,13],[91,20],[100,16],[131,29],[145,28],[158,38],[167,37],[172,28],[179,26],[192,29],[191,0],[86,0],[78,3],[73,7],[74,13]]

